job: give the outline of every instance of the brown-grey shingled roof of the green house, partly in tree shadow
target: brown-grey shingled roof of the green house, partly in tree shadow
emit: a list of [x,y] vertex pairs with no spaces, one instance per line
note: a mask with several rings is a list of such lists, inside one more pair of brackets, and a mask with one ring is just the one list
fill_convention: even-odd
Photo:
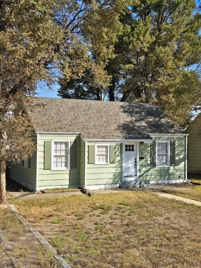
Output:
[[79,132],[84,139],[151,139],[149,133],[185,134],[157,105],[34,97],[45,108],[28,111],[35,131]]

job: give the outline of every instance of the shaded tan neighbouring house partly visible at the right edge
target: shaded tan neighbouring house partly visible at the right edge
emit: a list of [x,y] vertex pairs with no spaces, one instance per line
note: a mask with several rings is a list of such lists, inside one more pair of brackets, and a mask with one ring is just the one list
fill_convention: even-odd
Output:
[[188,172],[201,174],[201,114],[188,126]]

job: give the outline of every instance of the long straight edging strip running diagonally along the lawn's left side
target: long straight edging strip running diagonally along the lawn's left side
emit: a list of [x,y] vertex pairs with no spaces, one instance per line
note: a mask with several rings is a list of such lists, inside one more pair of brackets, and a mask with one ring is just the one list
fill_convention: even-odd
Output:
[[28,227],[30,232],[37,238],[38,242],[45,247],[52,251],[54,258],[62,264],[62,268],[72,268],[63,258],[60,256],[57,251],[51,246],[49,242],[38,232],[35,228],[33,228],[23,216],[20,215],[19,211],[15,208],[14,205],[10,204],[9,207],[14,212],[16,216],[18,216],[19,221],[25,226]]

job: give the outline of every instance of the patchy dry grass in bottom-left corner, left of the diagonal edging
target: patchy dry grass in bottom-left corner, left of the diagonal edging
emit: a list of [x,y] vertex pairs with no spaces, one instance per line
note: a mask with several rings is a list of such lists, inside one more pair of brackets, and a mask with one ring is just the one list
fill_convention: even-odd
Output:
[[0,208],[0,228],[13,248],[8,251],[0,243],[0,268],[14,267],[11,258],[17,260],[16,268],[59,267],[52,252],[42,248],[8,208]]

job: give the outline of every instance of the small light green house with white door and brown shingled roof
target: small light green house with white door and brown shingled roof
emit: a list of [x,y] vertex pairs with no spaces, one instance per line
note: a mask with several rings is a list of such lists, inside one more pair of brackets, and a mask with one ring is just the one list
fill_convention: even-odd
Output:
[[47,105],[27,111],[38,150],[10,168],[18,183],[91,190],[136,180],[185,182],[187,134],[156,105],[42,97],[33,102]]

